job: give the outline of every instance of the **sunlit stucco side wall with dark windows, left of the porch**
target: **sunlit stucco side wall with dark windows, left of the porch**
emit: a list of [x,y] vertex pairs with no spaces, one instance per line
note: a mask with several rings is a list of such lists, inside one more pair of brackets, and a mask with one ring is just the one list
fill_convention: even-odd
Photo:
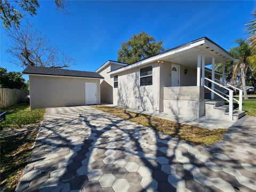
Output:
[[[140,68],[137,67],[118,74],[118,87],[113,88],[113,103],[115,105],[146,110],[158,110],[158,64],[153,66],[153,85],[140,86]],[[114,82],[113,75],[111,75]]]

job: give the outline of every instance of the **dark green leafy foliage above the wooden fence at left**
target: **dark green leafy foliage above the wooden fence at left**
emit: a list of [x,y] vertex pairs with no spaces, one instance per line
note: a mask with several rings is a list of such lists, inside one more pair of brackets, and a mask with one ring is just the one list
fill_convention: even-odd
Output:
[[7,70],[2,67],[0,67],[0,86],[9,89],[28,89],[20,72],[11,71],[7,73]]

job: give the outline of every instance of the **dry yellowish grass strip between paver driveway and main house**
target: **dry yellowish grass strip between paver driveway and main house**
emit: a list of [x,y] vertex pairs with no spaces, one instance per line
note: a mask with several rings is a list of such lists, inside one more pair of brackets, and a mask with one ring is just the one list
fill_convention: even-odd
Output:
[[107,107],[107,106],[93,106],[95,109],[105,111],[107,113],[116,115],[118,117],[127,119],[129,121],[151,127],[154,130],[161,131],[188,142],[197,145],[213,145],[215,142],[223,139],[222,134],[227,129],[209,130],[193,125],[180,124],[165,119],[152,117],[145,114],[133,113],[124,109]]

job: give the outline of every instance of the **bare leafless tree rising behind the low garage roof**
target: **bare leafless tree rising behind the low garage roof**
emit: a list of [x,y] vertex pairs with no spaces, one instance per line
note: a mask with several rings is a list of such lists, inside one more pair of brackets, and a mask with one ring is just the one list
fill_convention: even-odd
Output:
[[10,61],[18,66],[63,68],[75,63],[70,55],[51,46],[49,39],[29,22],[23,27],[8,30],[7,36],[11,39],[7,53],[12,55]]

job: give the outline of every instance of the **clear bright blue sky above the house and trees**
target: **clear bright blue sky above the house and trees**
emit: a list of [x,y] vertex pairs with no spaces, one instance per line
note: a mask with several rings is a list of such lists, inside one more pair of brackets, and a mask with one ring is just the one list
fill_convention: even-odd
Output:
[[[52,45],[77,60],[70,69],[94,71],[117,59],[122,42],[144,30],[163,41],[165,49],[207,36],[229,50],[245,36],[255,1],[69,1],[69,15],[57,12],[50,1],[39,1],[37,15],[27,15]],[[1,22],[1,67],[22,71],[9,62],[10,39]],[[25,76],[26,79],[28,79]]]

